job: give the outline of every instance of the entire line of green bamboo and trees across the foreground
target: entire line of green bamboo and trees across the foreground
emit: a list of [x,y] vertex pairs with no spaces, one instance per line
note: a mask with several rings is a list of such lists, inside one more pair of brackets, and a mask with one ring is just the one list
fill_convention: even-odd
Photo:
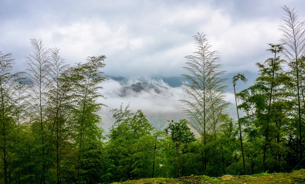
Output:
[[104,98],[105,56],[70,66],[58,49],[31,39],[26,70],[14,73],[12,55],[0,53],[0,183],[109,183],[304,168],[305,23],[283,8],[282,44],[269,44],[270,58],[256,63],[254,84],[235,91],[246,78],[232,79],[237,114],[245,116],[228,115],[219,53],[198,33],[184,67],[187,119],[169,122],[164,131],[122,104],[112,109],[115,123],[103,136],[97,112],[104,105],[98,99]]

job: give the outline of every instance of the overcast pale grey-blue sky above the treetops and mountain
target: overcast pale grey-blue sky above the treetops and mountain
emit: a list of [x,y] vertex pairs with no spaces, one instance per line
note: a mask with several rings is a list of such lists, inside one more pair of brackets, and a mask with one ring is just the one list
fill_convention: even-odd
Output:
[[41,38],[70,64],[105,55],[107,75],[171,77],[184,73],[192,36],[203,32],[224,70],[257,72],[267,43],[278,43],[284,5],[305,20],[303,0],[1,0],[0,51],[22,70],[29,39]]

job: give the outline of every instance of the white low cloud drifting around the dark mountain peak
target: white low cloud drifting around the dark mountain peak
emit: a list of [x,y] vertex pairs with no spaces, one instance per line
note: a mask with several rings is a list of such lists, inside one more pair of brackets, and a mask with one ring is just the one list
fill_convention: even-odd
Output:
[[[135,84],[144,89],[135,91],[128,88]],[[123,103],[124,106],[130,104],[133,111],[141,109],[146,114],[176,113],[184,107],[179,100],[186,98],[182,87],[171,87],[161,79],[129,79],[124,83],[110,79],[103,87],[102,94],[107,98],[102,100],[107,105],[104,110],[119,108]]]

